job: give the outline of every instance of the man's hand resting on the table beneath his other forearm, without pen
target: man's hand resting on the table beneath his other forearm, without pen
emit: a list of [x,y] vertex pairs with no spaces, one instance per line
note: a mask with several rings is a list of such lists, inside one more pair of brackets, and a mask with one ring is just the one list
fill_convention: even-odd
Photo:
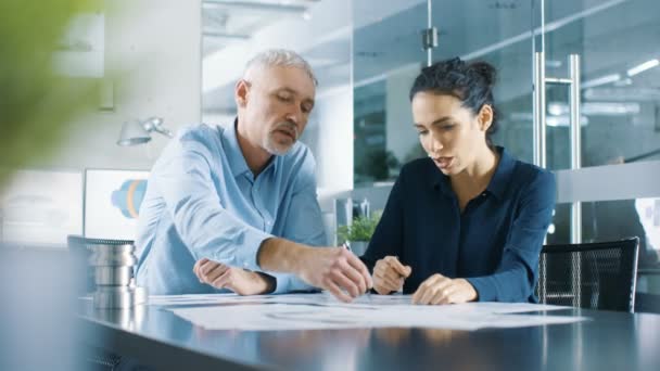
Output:
[[230,267],[221,263],[200,259],[192,268],[200,282],[216,289],[229,289],[239,295],[267,294],[275,290],[275,278],[262,272]]

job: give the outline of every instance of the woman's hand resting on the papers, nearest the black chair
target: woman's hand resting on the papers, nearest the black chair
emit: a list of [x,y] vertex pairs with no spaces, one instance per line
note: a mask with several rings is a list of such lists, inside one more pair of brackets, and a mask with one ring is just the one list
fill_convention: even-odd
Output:
[[435,273],[422,282],[412,295],[412,304],[459,304],[477,299],[477,291],[466,279],[450,279]]

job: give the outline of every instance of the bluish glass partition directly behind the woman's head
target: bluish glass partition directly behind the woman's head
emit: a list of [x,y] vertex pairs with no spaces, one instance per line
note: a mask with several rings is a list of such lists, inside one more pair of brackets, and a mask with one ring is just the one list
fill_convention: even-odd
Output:
[[532,3],[409,1],[369,22],[372,14],[366,8],[378,3],[353,4],[355,187],[392,182],[403,164],[424,155],[412,127],[408,91],[429,62],[422,43],[429,20],[437,35],[431,61],[460,56],[498,68],[495,98],[504,117],[495,142],[531,162]]

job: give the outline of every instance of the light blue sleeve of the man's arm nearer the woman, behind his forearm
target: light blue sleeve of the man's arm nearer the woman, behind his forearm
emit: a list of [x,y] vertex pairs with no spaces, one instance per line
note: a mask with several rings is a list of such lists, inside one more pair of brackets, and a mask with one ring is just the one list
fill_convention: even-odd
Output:
[[[282,238],[310,246],[326,246],[326,231],[321,218],[321,208],[316,194],[315,161],[307,150],[295,182],[293,195],[287,207],[287,219]],[[291,291],[312,291],[307,284],[295,274],[266,272],[277,280],[275,294]]]

